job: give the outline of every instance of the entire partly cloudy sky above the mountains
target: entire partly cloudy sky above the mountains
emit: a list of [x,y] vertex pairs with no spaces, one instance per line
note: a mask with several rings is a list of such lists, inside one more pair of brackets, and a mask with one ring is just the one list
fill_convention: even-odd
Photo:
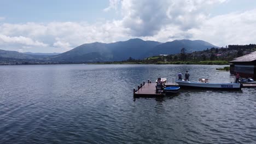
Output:
[[65,52],[131,38],[255,44],[255,0],[1,0],[0,49]]

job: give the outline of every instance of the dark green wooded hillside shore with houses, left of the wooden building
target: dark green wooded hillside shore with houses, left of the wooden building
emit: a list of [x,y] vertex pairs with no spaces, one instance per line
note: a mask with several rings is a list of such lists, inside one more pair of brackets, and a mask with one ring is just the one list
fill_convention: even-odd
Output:
[[[110,62],[109,64],[206,64],[206,65],[226,65],[236,57],[247,55],[256,49],[256,45],[229,45],[219,49],[212,47],[203,51],[185,53],[185,48],[181,53],[167,56],[153,56],[146,59],[133,59],[130,57],[122,62]],[[225,68],[227,69],[227,68]]]

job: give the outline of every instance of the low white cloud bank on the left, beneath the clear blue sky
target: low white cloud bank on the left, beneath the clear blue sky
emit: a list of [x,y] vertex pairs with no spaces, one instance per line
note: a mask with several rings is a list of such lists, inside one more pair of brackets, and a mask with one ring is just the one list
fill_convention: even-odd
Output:
[[3,23],[0,25],[0,34],[2,35],[0,49],[4,44],[6,47],[10,43],[20,43],[22,45],[33,44],[34,49],[39,50],[40,46],[45,46],[40,45],[43,43],[39,41],[44,41],[49,48],[56,48],[57,52],[65,52],[84,43],[94,43],[95,41],[111,43],[124,39],[127,37],[126,31],[127,29],[121,26],[120,21],[107,21],[94,25],[89,25],[86,22]]

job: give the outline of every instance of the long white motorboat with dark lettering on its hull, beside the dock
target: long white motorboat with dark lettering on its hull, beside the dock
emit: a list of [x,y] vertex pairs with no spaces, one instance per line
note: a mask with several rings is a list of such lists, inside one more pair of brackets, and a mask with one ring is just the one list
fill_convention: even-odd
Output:
[[197,82],[175,80],[181,87],[191,88],[216,88],[216,89],[241,89],[240,83],[211,83],[209,79],[199,79]]

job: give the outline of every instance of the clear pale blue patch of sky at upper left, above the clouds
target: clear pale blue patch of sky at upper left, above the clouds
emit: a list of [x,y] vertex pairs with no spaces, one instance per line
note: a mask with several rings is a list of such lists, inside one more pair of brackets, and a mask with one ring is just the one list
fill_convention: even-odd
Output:
[[54,1],[14,1],[1,2],[0,15],[6,17],[5,22],[51,22],[51,21],[87,21],[97,22],[102,19],[118,17],[114,11],[106,13],[109,1],[88,0],[54,0]]

